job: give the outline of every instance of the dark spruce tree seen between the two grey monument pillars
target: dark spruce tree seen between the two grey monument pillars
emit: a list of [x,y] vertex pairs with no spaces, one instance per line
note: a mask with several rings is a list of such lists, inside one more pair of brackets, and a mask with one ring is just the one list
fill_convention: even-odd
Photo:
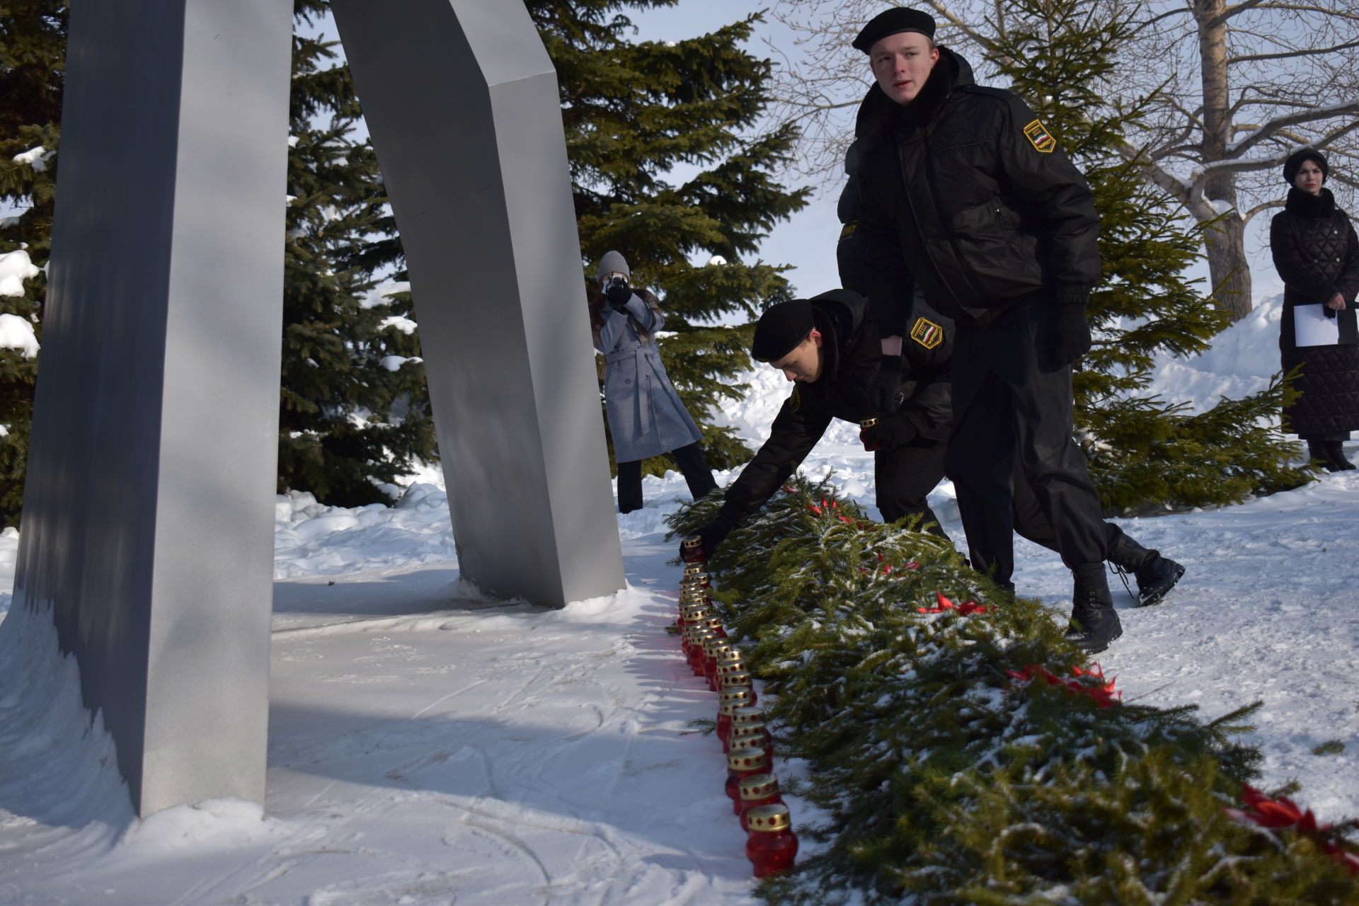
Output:
[[[323,0],[296,0],[311,24]],[[294,35],[279,490],[356,507],[435,456],[405,259],[336,42]],[[400,284],[398,284],[400,285]]]

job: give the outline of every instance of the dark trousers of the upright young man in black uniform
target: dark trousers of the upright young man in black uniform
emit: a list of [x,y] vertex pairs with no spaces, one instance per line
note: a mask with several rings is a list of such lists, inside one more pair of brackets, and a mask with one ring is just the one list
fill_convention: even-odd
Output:
[[1051,303],[1041,303],[1008,322],[958,326],[954,334],[954,424],[945,471],[958,494],[973,568],[1002,583],[1014,575],[1015,469],[1070,569],[1109,553],[1099,496],[1071,437],[1071,367],[1042,361],[1038,340],[1051,336]]

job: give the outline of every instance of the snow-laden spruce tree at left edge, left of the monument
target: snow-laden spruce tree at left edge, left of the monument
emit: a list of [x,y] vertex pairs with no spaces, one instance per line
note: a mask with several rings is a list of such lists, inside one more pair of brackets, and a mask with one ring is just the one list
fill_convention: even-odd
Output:
[[0,524],[18,526],[61,137],[67,4],[0,7]]

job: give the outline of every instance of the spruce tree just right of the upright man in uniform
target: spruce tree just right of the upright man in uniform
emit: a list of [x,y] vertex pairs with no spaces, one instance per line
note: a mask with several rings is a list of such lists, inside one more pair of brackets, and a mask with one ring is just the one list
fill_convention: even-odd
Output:
[[992,22],[987,57],[1084,173],[1099,212],[1104,277],[1090,297],[1094,348],[1074,375],[1076,433],[1102,503],[1118,512],[1210,505],[1303,484],[1296,444],[1276,427],[1291,393],[1276,378],[1212,410],[1147,393],[1158,355],[1204,352],[1230,322],[1185,270],[1201,258],[1201,225],[1150,189],[1117,153],[1150,98],[1110,96],[1131,34],[1117,4],[1015,0]]

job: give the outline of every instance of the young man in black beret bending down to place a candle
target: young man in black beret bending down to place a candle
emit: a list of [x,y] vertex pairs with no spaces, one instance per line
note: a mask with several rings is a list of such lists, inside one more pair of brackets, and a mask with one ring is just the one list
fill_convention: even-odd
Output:
[[[920,516],[920,528],[947,538],[925,494],[943,475],[949,435],[950,338],[923,314],[916,315],[920,341],[905,360],[906,379],[896,372],[893,410],[879,414],[870,394],[882,356],[877,327],[863,299],[832,289],[811,299],[771,306],[756,325],[750,356],[783,371],[794,382],[769,440],[727,489],[716,518],[699,530],[705,553],[722,543],[746,516],[764,505],[817,446],[832,418],[859,422],[878,417],[862,432],[874,454],[878,509],[886,522]],[[900,405],[897,403],[900,398]]]

